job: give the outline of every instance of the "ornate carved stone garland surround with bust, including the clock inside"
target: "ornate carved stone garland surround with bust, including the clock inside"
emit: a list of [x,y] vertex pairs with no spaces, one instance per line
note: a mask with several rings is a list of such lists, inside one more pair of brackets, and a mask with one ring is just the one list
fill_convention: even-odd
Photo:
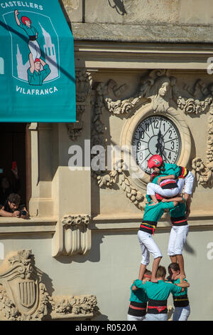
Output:
[[[192,87],[187,84],[179,86],[177,78],[170,76],[170,71],[153,70],[141,77],[130,98],[120,98],[126,90],[126,83],[119,86],[113,79],[94,87],[92,145],[104,146],[107,143],[107,127],[102,118],[105,110],[126,118],[119,143],[124,159],[115,161],[110,171],[99,170],[92,174],[99,187],[112,188],[118,184],[133,205],[143,210],[146,205],[144,191],[150,181],[147,161],[155,153],[162,154],[167,163],[192,167],[198,184],[212,186],[213,83],[206,84],[197,79]],[[191,157],[190,130],[185,122],[185,115],[199,117],[203,113],[209,114],[206,163],[200,157]]]

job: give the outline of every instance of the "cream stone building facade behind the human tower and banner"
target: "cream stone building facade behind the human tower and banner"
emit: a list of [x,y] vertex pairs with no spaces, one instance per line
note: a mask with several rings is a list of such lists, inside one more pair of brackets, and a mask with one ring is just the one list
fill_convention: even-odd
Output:
[[[211,1],[61,5],[75,39],[79,122],[28,125],[31,220],[0,218],[1,319],[126,320],[149,180],[126,165],[138,125],[155,120],[174,129],[169,159],[195,175],[183,254],[190,320],[212,320]],[[94,145],[106,158],[99,170],[91,168]],[[125,149],[120,158],[111,155],[115,146]],[[165,214],[154,237],[165,267],[169,234]]]

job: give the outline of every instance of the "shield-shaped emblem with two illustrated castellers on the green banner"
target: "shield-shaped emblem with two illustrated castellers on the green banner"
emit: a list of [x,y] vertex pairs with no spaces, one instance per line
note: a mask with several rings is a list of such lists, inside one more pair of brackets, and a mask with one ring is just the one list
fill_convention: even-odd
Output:
[[12,76],[30,86],[60,78],[58,35],[48,16],[33,11],[4,14],[10,27]]

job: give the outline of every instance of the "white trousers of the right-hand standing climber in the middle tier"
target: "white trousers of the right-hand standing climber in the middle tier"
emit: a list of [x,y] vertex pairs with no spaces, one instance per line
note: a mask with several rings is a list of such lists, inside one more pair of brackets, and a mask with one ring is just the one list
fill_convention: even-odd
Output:
[[172,227],[170,232],[170,239],[168,242],[168,256],[182,254],[182,248],[185,244],[187,234],[189,232],[189,227],[189,225]]

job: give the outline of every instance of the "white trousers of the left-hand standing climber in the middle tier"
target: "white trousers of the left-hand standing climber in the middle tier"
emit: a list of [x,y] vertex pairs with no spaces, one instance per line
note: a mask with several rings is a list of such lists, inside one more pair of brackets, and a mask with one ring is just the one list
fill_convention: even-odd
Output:
[[158,245],[153,240],[151,234],[138,230],[138,241],[140,243],[142,252],[141,264],[146,266],[149,264],[150,253],[153,254],[154,259],[162,257],[162,253],[160,252]]

